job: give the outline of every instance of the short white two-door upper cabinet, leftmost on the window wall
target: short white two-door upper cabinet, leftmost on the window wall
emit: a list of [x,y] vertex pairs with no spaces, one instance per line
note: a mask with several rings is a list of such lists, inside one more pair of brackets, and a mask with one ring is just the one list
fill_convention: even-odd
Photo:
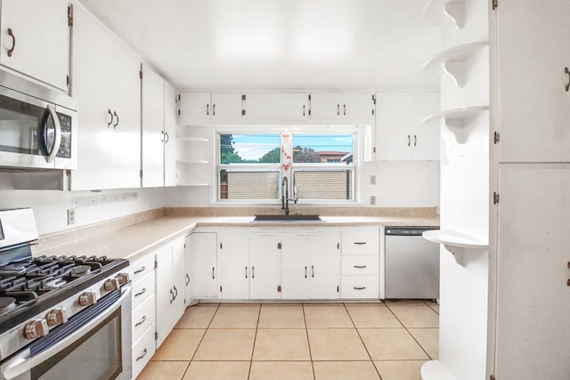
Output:
[[242,117],[241,93],[181,93],[180,125],[236,123]]

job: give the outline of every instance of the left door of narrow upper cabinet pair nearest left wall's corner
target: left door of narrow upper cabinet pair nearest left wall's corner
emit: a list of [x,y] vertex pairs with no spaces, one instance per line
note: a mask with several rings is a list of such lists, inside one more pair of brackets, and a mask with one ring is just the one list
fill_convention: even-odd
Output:
[[164,186],[164,79],[142,65],[142,187]]

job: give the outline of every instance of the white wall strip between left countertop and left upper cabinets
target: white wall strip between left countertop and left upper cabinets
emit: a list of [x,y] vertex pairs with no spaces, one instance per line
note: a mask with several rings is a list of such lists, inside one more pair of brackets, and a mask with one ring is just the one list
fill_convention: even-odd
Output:
[[[136,194],[136,199],[133,199],[134,194]],[[77,198],[85,203],[87,199],[96,199],[96,203],[90,206],[83,203],[74,204],[73,200]],[[102,203],[104,200],[108,203]],[[163,189],[103,190],[101,192],[0,190],[0,209],[31,207],[36,215],[40,235],[140,213],[161,207],[163,203]],[[76,222],[68,225],[67,210],[71,207],[75,208]]]

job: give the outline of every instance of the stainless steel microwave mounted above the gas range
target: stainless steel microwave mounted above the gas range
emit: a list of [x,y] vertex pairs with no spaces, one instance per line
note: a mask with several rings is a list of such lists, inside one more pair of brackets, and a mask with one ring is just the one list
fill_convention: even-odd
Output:
[[77,168],[77,103],[0,69],[0,166]]

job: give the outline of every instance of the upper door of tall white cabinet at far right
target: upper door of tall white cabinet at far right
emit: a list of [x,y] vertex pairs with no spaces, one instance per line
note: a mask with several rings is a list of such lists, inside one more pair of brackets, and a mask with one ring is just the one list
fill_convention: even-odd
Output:
[[499,161],[570,162],[570,2],[501,0],[496,12]]

